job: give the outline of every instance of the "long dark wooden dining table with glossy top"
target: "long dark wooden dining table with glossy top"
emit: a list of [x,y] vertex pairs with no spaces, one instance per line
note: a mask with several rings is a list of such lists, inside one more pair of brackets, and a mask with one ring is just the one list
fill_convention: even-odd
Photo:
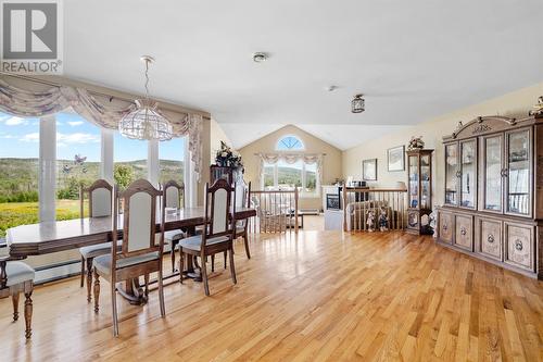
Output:
[[[197,226],[205,224],[203,207],[168,210],[165,213],[164,230],[184,229],[193,234]],[[256,215],[255,209],[236,208],[235,220],[241,221]],[[118,215],[117,240],[123,238],[123,214]],[[162,216],[156,215],[156,233],[160,233]],[[52,252],[77,249],[90,245],[113,240],[112,216],[85,217],[65,221],[40,222],[20,225],[7,230],[5,241],[13,259],[25,259]],[[192,274],[191,261],[185,273]],[[180,271],[181,273],[184,271]],[[139,278],[126,280],[124,287],[117,287],[119,294],[131,304],[147,302]]]

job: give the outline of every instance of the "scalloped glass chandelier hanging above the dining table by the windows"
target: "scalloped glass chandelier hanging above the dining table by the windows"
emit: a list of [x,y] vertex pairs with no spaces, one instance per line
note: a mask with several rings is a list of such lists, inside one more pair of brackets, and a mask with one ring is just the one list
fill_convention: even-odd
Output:
[[137,99],[137,109],[125,115],[118,123],[118,132],[131,139],[168,140],[173,137],[169,122],[156,110],[159,103],[149,98],[149,64],[154,62],[150,55],[141,57],[146,63],[146,99]]

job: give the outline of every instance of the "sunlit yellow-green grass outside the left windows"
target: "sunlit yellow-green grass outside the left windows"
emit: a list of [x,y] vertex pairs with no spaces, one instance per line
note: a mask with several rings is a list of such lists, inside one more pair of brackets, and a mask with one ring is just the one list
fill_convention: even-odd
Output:
[[[85,215],[88,215],[87,202]],[[36,224],[38,222],[38,202],[0,203],[0,237],[5,236],[10,227]],[[56,200],[56,220],[79,217],[79,200]]]

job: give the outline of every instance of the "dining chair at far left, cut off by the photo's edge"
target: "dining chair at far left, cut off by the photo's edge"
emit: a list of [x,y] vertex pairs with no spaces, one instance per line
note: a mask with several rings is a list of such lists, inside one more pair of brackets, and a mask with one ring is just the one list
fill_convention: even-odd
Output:
[[0,258],[0,298],[11,296],[13,302],[13,322],[18,320],[18,296],[25,294],[25,338],[31,336],[34,277],[36,273],[29,265],[11,260],[10,257]]

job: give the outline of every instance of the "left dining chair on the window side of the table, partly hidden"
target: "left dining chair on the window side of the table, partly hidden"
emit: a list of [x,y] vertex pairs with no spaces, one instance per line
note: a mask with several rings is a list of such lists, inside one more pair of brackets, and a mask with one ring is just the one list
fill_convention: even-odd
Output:
[[[85,195],[89,200],[89,217],[111,216],[111,201],[113,186],[105,179],[97,179],[87,189],[81,187],[79,191],[79,214],[84,217]],[[119,248],[121,245],[117,245]],[[103,242],[79,248],[81,254],[81,279],[80,287],[85,284],[85,274],[87,274],[87,301],[91,301],[92,290],[92,260],[96,257],[104,255],[111,250],[111,242]]]

